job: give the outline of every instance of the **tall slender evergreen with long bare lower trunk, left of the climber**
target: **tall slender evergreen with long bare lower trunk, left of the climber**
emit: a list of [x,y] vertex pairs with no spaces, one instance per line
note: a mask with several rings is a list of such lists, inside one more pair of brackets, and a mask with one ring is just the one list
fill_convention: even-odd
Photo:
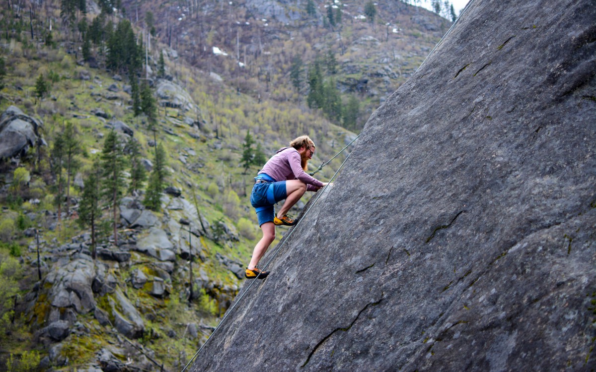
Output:
[[122,145],[114,130],[105,137],[104,148],[101,152],[101,189],[102,195],[110,202],[113,208],[114,245],[118,245],[118,204],[124,189],[126,160]]

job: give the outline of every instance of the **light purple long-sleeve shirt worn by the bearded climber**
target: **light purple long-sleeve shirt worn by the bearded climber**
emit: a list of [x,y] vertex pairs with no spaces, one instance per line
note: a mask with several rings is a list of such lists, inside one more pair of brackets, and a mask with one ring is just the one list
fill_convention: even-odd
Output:
[[266,173],[276,181],[300,180],[306,183],[306,190],[316,191],[323,187],[323,183],[311,177],[302,169],[300,153],[293,147],[284,147],[275,152],[275,155],[263,165],[259,174]]

